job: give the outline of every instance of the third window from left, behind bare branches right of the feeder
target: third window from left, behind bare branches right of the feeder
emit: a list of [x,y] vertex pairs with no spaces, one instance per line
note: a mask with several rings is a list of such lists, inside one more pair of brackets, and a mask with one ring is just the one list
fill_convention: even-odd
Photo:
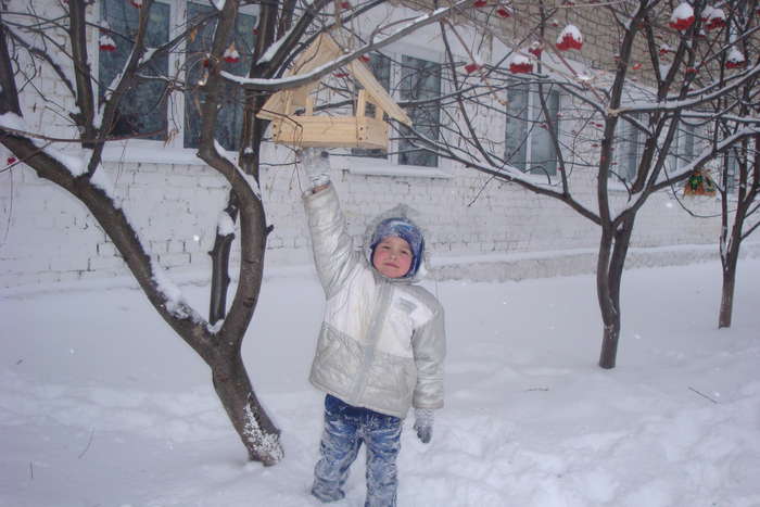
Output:
[[557,151],[548,125],[559,131],[559,92],[543,88],[548,121],[539,87],[516,84],[507,91],[505,159],[509,165],[536,175],[557,174]]

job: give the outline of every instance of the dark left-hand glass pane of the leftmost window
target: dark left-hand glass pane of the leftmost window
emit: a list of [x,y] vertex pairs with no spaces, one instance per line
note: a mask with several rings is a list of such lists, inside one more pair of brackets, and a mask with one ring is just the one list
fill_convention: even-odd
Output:
[[[109,85],[122,72],[132,50],[132,40],[137,34],[139,10],[123,0],[103,0],[102,16],[115,33],[112,39],[116,49],[100,51],[98,79],[100,80],[100,100],[102,101]],[[156,2],[150,11],[147,47],[156,47],[169,38],[169,5]],[[169,62],[166,55],[153,60],[144,74],[166,76]],[[164,81],[144,81],[130,90],[123,99],[116,116],[112,136],[135,136],[143,139],[167,139],[167,92]]]

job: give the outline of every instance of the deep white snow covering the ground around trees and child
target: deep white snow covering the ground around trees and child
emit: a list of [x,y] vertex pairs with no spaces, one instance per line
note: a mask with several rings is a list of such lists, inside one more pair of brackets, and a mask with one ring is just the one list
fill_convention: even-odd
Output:
[[[719,264],[628,271],[610,371],[593,277],[428,283],[447,312],[447,405],[427,446],[406,422],[400,506],[760,505],[760,261],[739,276],[718,330]],[[206,367],[142,294],[93,287],[0,299],[0,506],[317,505],[308,271],[267,278],[244,345],[282,430],[271,468],[245,461]],[[338,505],[364,487],[359,458]]]

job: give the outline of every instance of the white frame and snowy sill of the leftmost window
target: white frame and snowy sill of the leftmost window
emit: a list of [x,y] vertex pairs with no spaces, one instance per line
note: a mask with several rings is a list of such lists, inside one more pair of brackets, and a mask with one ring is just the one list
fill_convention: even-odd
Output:
[[[169,26],[168,26],[168,37],[169,40],[180,33],[186,23],[189,11],[190,3],[198,3],[200,5],[205,5],[202,0],[155,0],[156,3],[166,4],[169,7]],[[102,23],[104,20],[101,11],[101,2],[98,2],[98,8],[93,10],[93,22],[97,24]],[[240,9],[242,14],[253,15],[256,18],[259,16],[259,7],[243,5]],[[168,68],[169,74],[173,71],[181,68],[178,72],[178,77],[185,79],[186,69],[182,68],[185,65],[185,59],[187,53],[187,43],[182,40],[176,48],[175,51],[168,54]],[[92,73],[94,76],[100,74],[100,47],[98,37],[92,37],[90,40],[90,54],[98,55],[92,59]],[[144,162],[144,163],[175,163],[175,164],[198,164],[202,161],[198,157],[198,148],[186,148],[185,144],[185,131],[187,123],[187,112],[186,112],[186,96],[185,92],[180,90],[172,91],[172,94],[167,98],[166,105],[166,121],[167,121],[167,139],[166,140],[150,140],[150,139],[125,139],[118,141],[109,141],[105,143],[103,150],[103,160],[106,162]],[[172,116],[174,115],[174,121]],[[156,150],[156,148],[161,150]],[[236,156],[237,151],[225,150],[227,156]]]

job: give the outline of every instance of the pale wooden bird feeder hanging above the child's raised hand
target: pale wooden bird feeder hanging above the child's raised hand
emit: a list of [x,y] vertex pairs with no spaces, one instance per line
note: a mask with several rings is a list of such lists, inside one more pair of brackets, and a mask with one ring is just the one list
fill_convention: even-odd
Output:
[[[343,51],[332,37],[322,34],[296,59],[288,75],[308,73],[341,54]],[[387,150],[389,125],[383,121],[383,113],[411,126],[409,116],[393,101],[364,63],[354,60],[347,64],[347,71],[349,77],[355,78],[364,88],[358,92],[356,116],[315,115],[312,92],[319,86],[318,81],[281,90],[273,94],[256,115],[271,121],[275,143],[295,148]],[[367,104],[375,105],[372,116],[367,115]]]

